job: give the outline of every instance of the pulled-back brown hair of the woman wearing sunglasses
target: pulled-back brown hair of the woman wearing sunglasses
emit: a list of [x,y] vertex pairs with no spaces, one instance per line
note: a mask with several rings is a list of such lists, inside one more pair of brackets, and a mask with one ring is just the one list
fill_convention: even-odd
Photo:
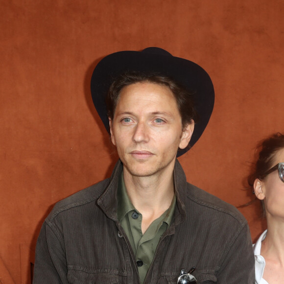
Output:
[[255,179],[263,180],[266,172],[275,166],[273,163],[276,153],[284,149],[284,134],[275,133],[272,136],[262,140],[256,151],[258,159],[254,167],[254,171],[248,177],[248,184],[253,189]]

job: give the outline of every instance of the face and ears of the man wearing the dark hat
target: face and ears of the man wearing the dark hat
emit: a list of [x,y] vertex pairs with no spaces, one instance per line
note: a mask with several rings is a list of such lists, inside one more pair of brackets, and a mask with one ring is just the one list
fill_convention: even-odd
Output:
[[168,87],[148,82],[124,87],[110,121],[123,170],[141,177],[172,172],[178,147],[188,145],[193,125],[192,121],[183,131]]

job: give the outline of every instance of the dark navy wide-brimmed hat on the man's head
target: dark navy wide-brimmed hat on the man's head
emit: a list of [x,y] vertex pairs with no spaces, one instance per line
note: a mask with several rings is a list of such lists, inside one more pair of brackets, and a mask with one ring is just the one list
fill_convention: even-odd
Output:
[[[113,80],[126,71],[166,75],[191,92],[199,117],[189,143],[192,147],[206,128],[214,106],[213,83],[207,72],[196,63],[172,56],[159,47],[148,47],[142,51],[119,51],[107,55],[95,67],[91,79],[91,93],[97,113],[108,132],[109,120],[105,98]],[[181,156],[187,150],[179,150],[177,156]]]

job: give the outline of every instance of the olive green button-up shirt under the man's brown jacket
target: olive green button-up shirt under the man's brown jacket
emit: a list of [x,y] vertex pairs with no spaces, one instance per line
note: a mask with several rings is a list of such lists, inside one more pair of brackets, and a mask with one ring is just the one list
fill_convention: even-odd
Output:
[[154,220],[146,232],[142,234],[142,214],[131,203],[121,174],[118,183],[118,221],[120,222],[133,249],[140,283],[144,282],[146,273],[154,258],[160,237],[170,226],[176,204],[174,195],[170,207],[159,218]]

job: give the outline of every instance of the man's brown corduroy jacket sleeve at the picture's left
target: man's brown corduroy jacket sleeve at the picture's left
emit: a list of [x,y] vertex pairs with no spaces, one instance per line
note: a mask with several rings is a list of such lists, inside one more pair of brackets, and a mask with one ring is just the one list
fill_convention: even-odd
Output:
[[36,245],[33,284],[67,284],[64,239],[44,222]]

